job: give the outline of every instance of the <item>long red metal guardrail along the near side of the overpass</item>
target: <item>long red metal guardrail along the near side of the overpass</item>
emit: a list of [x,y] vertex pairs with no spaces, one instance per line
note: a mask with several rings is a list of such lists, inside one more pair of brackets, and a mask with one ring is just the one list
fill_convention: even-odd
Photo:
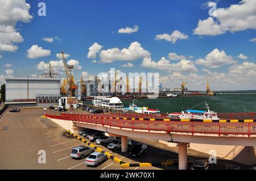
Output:
[[79,121],[82,123],[101,124],[118,128],[129,128],[150,131],[204,133],[204,134],[243,134],[250,137],[256,134],[256,122],[253,123],[203,123],[203,122],[180,122],[180,121],[151,121],[119,119],[119,117],[85,117],[81,115],[46,115],[46,117],[60,120]]

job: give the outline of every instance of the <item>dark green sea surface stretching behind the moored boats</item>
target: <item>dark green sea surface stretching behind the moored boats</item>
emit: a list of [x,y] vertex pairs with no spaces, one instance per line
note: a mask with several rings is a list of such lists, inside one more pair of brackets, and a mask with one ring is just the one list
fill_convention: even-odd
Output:
[[[158,109],[161,113],[181,112],[196,106],[202,102],[207,102],[210,111],[218,113],[224,112],[256,112],[256,94],[237,95],[216,95],[210,97],[178,97],[178,98],[158,98],[158,99],[138,99],[148,108]],[[122,100],[125,107],[128,107],[133,100]],[[86,101],[91,104],[91,101]],[[139,106],[139,105],[138,105]],[[193,108],[194,110],[206,110],[201,104]]]

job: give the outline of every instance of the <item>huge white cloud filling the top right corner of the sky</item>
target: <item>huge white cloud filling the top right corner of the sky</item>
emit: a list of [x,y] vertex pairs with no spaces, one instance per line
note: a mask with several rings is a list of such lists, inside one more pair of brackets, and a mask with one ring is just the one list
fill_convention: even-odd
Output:
[[225,32],[236,32],[256,29],[256,1],[242,0],[228,8],[218,8],[214,17],[199,20],[196,35],[221,35]]

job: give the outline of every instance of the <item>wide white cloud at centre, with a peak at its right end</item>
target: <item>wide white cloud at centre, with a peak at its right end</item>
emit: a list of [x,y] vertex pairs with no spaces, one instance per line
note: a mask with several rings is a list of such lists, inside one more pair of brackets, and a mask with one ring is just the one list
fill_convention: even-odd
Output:
[[104,63],[111,63],[113,61],[134,61],[139,58],[150,57],[150,52],[143,49],[141,44],[134,41],[128,48],[111,48],[107,50],[101,50],[100,60]]

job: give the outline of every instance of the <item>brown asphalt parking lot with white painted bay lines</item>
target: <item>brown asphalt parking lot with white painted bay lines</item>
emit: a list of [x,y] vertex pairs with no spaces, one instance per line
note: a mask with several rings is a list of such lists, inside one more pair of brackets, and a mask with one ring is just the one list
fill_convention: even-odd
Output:
[[[80,111],[81,112],[81,111]],[[47,113],[56,114],[54,110]],[[0,169],[86,169],[86,170],[115,170],[115,169],[178,169],[178,166],[159,167],[129,167],[122,168],[119,163],[108,159],[98,167],[86,166],[84,159],[72,159],[69,154],[73,147],[85,145],[70,136],[65,129],[53,123],[44,115],[41,109],[21,109],[19,113],[7,112],[0,122]],[[167,159],[177,159],[177,148],[170,148],[154,140],[131,139],[134,145],[142,142],[148,146],[148,152],[141,158],[134,158],[121,150],[109,150],[107,144],[98,145],[102,150],[126,163],[136,162],[163,162]],[[39,150],[46,151],[46,163],[39,164]],[[188,149],[188,159],[205,159],[209,156],[195,150]],[[238,165],[241,169],[246,166],[218,159],[217,164],[210,165],[209,169],[225,169],[226,165]],[[188,165],[190,168],[191,165]]]

